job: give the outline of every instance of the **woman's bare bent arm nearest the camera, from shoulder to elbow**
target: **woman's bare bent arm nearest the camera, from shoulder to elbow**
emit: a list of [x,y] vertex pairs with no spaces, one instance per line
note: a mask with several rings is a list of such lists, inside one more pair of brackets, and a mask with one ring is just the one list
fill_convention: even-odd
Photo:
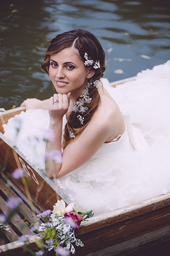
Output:
[[[117,126],[115,122],[117,114],[113,112],[109,113],[104,108],[97,109],[83,133],[65,147],[63,162],[61,164],[55,162],[47,163],[46,173],[48,177],[62,177],[88,161],[101,145],[113,135],[114,126]],[[48,143],[48,151],[59,150],[59,147],[61,147],[57,141],[58,135],[59,133],[57,132],[56,139]],[[61,137],[58,136],[58,138]]]

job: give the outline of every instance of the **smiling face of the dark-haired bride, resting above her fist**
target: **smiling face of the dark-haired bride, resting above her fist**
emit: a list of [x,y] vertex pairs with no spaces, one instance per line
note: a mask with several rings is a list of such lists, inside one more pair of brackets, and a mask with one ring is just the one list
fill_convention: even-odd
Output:
[[58,93],[70,92],[78,97],[93,74],[94,71],[85,67],[75,48],[65,48],[51,55],[49,75]]

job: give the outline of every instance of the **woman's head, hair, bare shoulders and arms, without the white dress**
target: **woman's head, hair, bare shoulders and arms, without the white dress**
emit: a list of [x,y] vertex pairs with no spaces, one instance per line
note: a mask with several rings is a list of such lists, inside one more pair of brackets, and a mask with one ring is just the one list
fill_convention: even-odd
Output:
[[[118,140],[125,124],[116,102],[102,86],[98,88],[105,71],[105,53],[94,35],[80,29],[57,35],[41,67],[57,94],[42,102],[25,100],[21,106],[49,108],[54,139],[47,142],[46,151],[62,151],[63,145],[63,161],[48,161],[46,173],[58,178],[82,166],[103,143]],[[64,115],[67,125],[62,142]]]

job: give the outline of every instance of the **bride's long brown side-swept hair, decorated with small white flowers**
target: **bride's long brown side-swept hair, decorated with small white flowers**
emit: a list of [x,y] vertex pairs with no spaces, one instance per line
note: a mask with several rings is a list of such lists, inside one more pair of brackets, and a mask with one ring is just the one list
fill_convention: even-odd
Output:
[[[50,56],[68,47],[74,47],[75,49],[78,49],[79,55],[83,62],[85,61],[85,52],[87,52],[89,60],[94,60],[94,64],[96,60],[100,61],[100,68],[94,69],[95,74],[92,76],[92,78],[89,79],[90,82],[94,82],[96,79],[103,77],[103,72],[106,70],[105,52],[103,51],[103,48],[95,35],[81,29],[59,34],[56,36],[56,38],[53,38],[50,41],[50,46],[46,51],[45,60],[43,63],[41,63],[42,70],[48,74]],[[91,86],[89,88],[89,97],[92,98],[91,103],[85,104],[88,110],[81,114],[81,116],[84,117],[83,125],[80,124],[80,121],[77,118],[78,113],[75,113],[74,111],[70,113],[64,129],[63,148],[65,148],[68,143],[73,140],[73,138],[69,136],[69,132],[73,132],[75,137],[80,135],[91,120],[91,117],[95,113],[98,105],[100,104],[100,94],[98,93],[98,89],[96,87]]]

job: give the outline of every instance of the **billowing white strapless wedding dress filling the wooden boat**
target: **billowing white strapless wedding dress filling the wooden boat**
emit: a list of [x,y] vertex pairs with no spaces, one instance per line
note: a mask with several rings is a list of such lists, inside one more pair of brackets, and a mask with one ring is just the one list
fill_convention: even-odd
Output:
[[[72,201],[95,214],[170,191],[170,61],[116,88],[107,79],[102,82],[118,103],[126,130],[118,141],[104,143],[83,166],[57,179]],[[39,168],[45,167],[45,142],[40,138],[48,124],[46,110],[28,110],[4,125],[5,136]]]

